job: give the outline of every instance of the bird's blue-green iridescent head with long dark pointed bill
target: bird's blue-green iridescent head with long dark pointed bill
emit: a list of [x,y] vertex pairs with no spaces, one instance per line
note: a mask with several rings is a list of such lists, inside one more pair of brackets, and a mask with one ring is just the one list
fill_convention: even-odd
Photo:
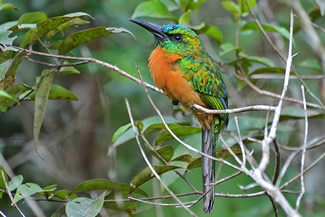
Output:
[[130,19],[151,32],[157,39],[157,47],[169,53],[192,56],[205,52],[199,36],[184,25],[168,24],[159,26],[143,20]]

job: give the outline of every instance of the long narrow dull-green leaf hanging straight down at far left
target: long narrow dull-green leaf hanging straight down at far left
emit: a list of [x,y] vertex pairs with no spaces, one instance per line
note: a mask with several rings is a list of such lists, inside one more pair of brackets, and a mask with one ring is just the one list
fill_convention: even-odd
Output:
[[47,101],[50,94],[51,85],[54,78],[54,69],[43,70],[40,77],[36,81],[35,92],[35,109],[33,123],[33,137],[35,148],[37,148],[38,137],[45,116]]

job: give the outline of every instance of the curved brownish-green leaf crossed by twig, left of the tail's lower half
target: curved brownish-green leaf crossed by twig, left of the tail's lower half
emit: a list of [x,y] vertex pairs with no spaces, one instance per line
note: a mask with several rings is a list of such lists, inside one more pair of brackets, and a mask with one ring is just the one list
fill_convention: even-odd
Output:
[[[168,171],[180,168],[178,166],[172,166],[172,165],[164,165],[164,166],[153,166],[154,170],[159,174],[166,173]],[[154,178],[155,175],[151,172],[150,168],[147,167],[143,169],[140,173],[138,173],[135,177],[133,177],[130,186],[130,192],[132,193],[136,188],[138,188],[140,185],[143,183],[146,183],[147,181],[151,180]]]

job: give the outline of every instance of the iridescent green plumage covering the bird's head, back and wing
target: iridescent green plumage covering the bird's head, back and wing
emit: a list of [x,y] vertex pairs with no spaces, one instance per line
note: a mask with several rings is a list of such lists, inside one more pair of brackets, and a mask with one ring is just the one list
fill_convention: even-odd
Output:
[[[183,25],[169,24],[163,26],[163,32],[170,36],[180,36],[181,41],[169,37],[158,41],[158,47],[167,50],[170,55],[183,56],[179,67],[186,80],[200,94],[202,101],[210,109],[223,110],[228,108],[226,85],[221,70],[209,54],[195,32]],[[218,115],[221,121],[228,123],[228,115]]]

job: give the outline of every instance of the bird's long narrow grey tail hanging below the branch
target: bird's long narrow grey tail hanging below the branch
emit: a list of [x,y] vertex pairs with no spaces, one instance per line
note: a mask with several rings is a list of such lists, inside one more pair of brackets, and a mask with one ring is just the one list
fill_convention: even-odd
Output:
[[[218,122],[218,120],[215,120]],[[211,130],[202,128],[202,152],[215,156],[215,145],[219,135],[219,124],[212,124]],[[215,182],[215,161],[202,156],[202,180],[203,180],[203,211],[210,213],[214,204],[214,186]]]

